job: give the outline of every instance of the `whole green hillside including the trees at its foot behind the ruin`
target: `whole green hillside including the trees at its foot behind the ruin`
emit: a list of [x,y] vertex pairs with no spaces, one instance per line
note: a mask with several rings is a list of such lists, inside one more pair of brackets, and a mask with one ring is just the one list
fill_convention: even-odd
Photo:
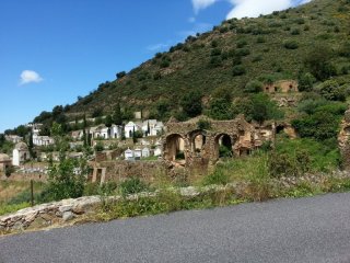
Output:
[[[116,112],[118,123],[132,118],[133,111],[162,121],[200,114],[231,119],[243,113],[248,121],[284,118],[301,137],[327,139],[338,130],[350,92],[349,28],[349,0],[314,0],[257,19],[224,21],[34,121],[46,124],[43,134],[49,134],[52,122],[66,132],[82,128],[78,121],[84,115],[96,117],[96,125],[110,123]],[[279,93],[261,92],[278,80],[299,82],[299,106],[278,107],[271,99]],[[317,133],[310,130],[318,126]]]

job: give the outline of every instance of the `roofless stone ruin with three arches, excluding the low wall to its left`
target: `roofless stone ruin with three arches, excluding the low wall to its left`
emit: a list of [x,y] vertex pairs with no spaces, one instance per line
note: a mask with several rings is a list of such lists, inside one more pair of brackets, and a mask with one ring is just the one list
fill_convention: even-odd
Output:
[[[200,122],[208,127],[200,128]],[[265,141],[273,145],[275,136],[273,122],[250,124],[243,115],[232,121],[213,121],[205,116],[184,123],[171,119],[163,136],[163,160],[170,171],[183,168],[207,173],[220,160],[222,146],[232,157],[241,157],[249,155]]]

